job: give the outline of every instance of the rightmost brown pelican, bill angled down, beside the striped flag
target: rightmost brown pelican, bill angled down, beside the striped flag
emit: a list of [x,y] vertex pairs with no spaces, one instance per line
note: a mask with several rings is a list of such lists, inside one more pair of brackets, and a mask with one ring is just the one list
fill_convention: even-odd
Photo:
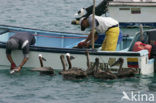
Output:
[[114,64],[111,65],[115,66],[119,64],[119,70],[118,73],[116,74],[118,78],[123,78],[123,77],[133,77],[136,73],[136,70],[134,68],[122,68],[124,63],[123,58],[119,58]]

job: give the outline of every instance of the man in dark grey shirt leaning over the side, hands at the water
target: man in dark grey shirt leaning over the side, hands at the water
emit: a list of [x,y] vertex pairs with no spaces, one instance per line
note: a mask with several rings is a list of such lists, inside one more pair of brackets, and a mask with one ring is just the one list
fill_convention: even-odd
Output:
[[[31,33],[28,32],[17,32],[15,35],[11,36],[6,44],[6,56],[11,63],[11,70],[19,72],[23,65],[27,62],[29,58],[29,46],[35,44],[35,38]],[[15,49],[23,50],[24,59],[21,64],[16,67],[15,62],[11,57],[11,51]]]

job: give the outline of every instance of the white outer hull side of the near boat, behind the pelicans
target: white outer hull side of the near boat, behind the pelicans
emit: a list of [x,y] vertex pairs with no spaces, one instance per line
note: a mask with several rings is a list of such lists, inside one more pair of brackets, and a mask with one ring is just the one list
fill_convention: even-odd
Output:
[[[38,55],[42,54],[42,56],[47,60],[44,62],[44,66],[50,66],[54,69],[62,69],[62,64],[60,60],[60,55],[65,55],[66,53],[70,53],[72,56],[75,57],[74,60],[72,60],[72,64],[74,67],[80,67],[84,70],[87,69],[87,60],[85,51],[83,52],[73,52],[73,51],[51,51],[51,52],[44,52],[44,51],[31,51],[29,55],[28,62],[24,65],[24,67],[27,68],[34,68],[39,67],[40,62],[38,59]],[[0,62],[0,66],[3,66],[3,68],[9,68],[10,63],[8,62],[5,54],[5,48],[0,48],[0,55],[1,58],[3,58]],[[23,59],[23,54],[20,50],[13,51],[12,57],[17,65],[19,65]],[[124,59],[123,68],[131,68],[128,65],[128,58],[137,59],[137,67],[134,67],[138,70],[138,73],[141,74],[151,74],[154,73],[154,61],[148,60],[148,55],[141,56],[139,53],[127,53],[127,52],[92,52],[90,53],[90,62],[93,64],[95,61],[95,58],[100,59],[100,65],[102,66],[104,63],[111,65],[119,58]],[[110,68],[110,66],[109,66]],[[119,69],[119,66],[114,66],[112,68],[113,71],[117,71]]]

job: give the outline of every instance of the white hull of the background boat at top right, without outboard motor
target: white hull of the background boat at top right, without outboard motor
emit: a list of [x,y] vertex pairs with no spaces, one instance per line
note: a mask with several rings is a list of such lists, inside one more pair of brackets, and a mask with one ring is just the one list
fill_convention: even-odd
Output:
[[118,20],[121,27],[156,27],[156,0],[113,0],[108,15]]

